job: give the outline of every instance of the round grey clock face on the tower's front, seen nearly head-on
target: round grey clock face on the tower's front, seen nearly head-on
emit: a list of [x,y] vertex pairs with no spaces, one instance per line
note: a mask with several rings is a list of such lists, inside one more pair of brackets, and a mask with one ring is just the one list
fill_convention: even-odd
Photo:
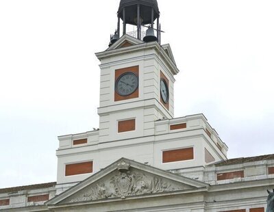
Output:
[[121,96],[129,96],[138,88],[138,77],[133,72],[125,72],[115,83],[115,90]]

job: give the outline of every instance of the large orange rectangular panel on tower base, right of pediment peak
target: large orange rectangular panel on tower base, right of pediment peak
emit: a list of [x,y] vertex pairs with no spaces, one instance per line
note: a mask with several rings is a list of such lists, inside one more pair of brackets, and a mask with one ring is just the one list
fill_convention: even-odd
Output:
[[182,148],[178,150],[168,150],[162,153],[162,162],[170,163],[175,161],[186,161],[194,159],[193,148]]

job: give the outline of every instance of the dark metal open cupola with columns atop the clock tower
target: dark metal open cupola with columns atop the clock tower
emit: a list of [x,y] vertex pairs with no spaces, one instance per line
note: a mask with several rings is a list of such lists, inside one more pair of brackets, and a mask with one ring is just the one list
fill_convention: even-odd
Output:
[[[117,12],[118,25],[117,36],[120,38],[121,29],[120,21],[123,21],[123,35],[129,34],[145,42],[152,40],[160,40],[160,12],[157,0],[121,0],[119,10]],[[157,20],[157,27],[154,27],[154,21]],[[137,31],[127,32],[127,24],[137,27]],[[147,35],[142,31],[142,28],[149,28]],[[156,31],[157,37],[154,36]],[[146,37],[149,36],[149,39]],[[152,36],[152,37],[151,37]],[[153,38],[154,37],[154,38]]]

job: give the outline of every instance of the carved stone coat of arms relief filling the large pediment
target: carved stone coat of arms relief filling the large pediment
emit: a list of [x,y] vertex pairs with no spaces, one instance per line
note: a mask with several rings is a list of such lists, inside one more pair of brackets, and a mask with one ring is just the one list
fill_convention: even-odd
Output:
[[112,172],[108,178],[87,187],[82,194],[75,196],[70,202],[126,198],[182,189],[186,189],[186,187],[181,183],[131,168],[129,163],[122,161],[117,165],[117,170]]

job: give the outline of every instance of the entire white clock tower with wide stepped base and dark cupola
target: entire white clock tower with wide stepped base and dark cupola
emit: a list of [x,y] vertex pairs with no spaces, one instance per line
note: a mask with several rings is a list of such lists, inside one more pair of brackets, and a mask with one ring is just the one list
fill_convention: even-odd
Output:
[[227,146],[203,114],[174,118],[179,70],[169,44],[160,43],[159,18],[156,0],[121,0],[117,31],[96,53],[99,130],[58,137],[58,185],[71,187],[122,157],[200,180],[204,165],[226,159]]

